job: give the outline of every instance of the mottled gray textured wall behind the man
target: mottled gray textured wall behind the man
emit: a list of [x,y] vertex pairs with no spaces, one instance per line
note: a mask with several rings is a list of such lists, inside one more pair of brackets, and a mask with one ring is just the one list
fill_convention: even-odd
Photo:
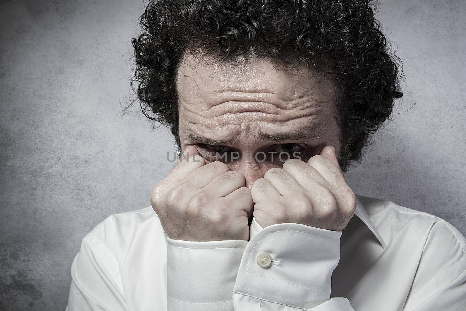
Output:
[[[63,310],[82,237],[110,214],[149,206],[170,169],[167,131],[120,117],[143,9],[1,1],[0,310]],[[382,0],[405,95],[348,180],[466,235],[465,9],[463,0]]]

